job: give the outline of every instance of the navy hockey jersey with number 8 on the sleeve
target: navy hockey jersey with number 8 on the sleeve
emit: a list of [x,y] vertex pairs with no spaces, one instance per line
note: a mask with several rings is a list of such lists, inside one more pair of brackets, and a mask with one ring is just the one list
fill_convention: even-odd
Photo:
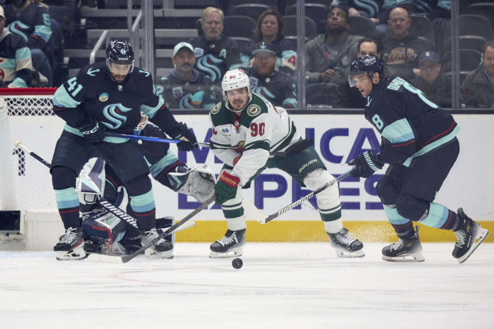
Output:
[[414,157],[452,140],[453,117],[408,81],[389,77],[367,97],[365,118],[381,133],[380,159],[409,166]]

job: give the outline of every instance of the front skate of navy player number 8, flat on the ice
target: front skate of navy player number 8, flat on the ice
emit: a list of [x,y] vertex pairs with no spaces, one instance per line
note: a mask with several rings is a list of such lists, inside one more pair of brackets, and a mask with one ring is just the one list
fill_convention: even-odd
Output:
[[390,262],[424,262],[422,245],[418,236],[418,225],[412,239],[400,239],[397,243],[382,248],[382,259]]

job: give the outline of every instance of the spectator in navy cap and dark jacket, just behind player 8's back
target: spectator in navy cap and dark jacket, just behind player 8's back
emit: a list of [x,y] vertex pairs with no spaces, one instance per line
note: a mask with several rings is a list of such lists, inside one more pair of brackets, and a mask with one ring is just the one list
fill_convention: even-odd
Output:
[[441,72],[439,54],[433,50],[422,52],[418,68],[420,76],[414,78],[412,83],[440,107],[451,107],[451,78]]

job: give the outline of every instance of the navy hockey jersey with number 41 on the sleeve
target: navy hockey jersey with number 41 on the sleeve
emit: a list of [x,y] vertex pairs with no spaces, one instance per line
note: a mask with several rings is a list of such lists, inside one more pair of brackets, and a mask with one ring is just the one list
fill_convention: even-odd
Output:
[[[156,95],[152,75],[134,67],[122,84],[114,82],[104,63],[82,68],[77,76],[67,80],[55,92],[53,108],[66,121],[65,130],[82,136],[78,127],[93,117],[105,129],[123,134],[134,133],[144,112],[170,136],[179,134],[178,122]],[[123,142],[126,139],[105,137],[105,141]]]

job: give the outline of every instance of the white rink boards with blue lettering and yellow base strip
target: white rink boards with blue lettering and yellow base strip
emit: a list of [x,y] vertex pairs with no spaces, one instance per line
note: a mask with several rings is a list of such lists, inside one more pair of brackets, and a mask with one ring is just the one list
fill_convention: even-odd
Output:
[[[211,136],[207,115],[176,115],[178,121],[185,121],[199,141],[208,141]],[[454,115],[461,127],[460,156],[437,195],[436,202],[456,210],[463,207],[465,212],[483,223],[489,230],[494,229],[493,192],[494,178],[491,166],[493,151],[490,142],[494,140],[494,117],[491,115]],[[311,137],[314,147],[321,155],[329,172],[334,176],[348,169],[345,164],[363,150],[378,151],[380,136],[363,115],[291,115],[302,137]],[[54,116],[15,116],[8,120],[10,139],[3,139],[2,152],[13,157],[5,163],[7,172],[15,184],[15,200],[11,189],[2,184],[1,199],[3,209],[27,211],[26,236],[33,249],[39,249],[42,241],[58,236],[61,221],[55,207],[55,197],[51,190],[51,177],[36,160],[20,159],[12,156],[12,143],[21,140],[32,151],[51,160],[55,143],[59,137],[63,121]],[[171,150],[177,152],[175,145]],[[179,157],[189,166],[206,163],[218,174],[222,163],[206,147],[193,152],[179,152]],[[5,157],[7,158],[7,156]],[[7,162],[7,161],[6,161]],[[344,225],[363,241],[388,241],[394,239],[390,225],[376,195],[375,184],[380,170],[367,179],[346,179],[340,184]],[[5,178],[5,177],[4,177]],[[178,195],[154,184],[157,216],[173,215],[180,219],[199,206],[192,198]],[[271,214],[304,196],[292,179],[279,170],[264,171],[248,190],[243,190],[244,198],[250,199],[263,213]],[[12,208],[12,205],[14,207]],[[248,240],[250,241],[327,241],[319,214],[315,210],[315,200],[306,202],[300,209],[293,209],[266,225],[248,217]],[[39,211],[42,211],[40,213]],[[199,213],[196,227],[178,234],[178,241],[211,241],[220,237],[226,229],[223,215],[218,206]],[[451,232],[421,229],[424,241],[454,241]],[[494,241],[494,234],[487,241]],[[37,247],[38,246],[38,247]]]

